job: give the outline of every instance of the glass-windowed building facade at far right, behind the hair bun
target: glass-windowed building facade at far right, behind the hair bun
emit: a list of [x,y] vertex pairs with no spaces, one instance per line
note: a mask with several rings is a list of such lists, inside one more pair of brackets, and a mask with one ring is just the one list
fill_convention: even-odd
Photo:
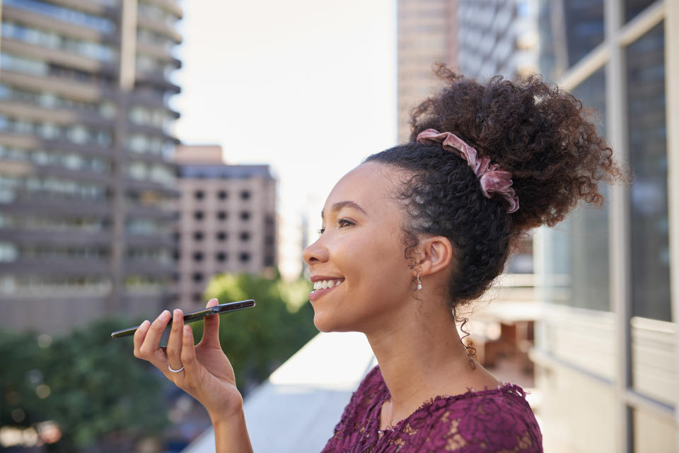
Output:
[[679,2],[542,0],[540,37],[634,175],[536,235],[545,451],[677,452]]

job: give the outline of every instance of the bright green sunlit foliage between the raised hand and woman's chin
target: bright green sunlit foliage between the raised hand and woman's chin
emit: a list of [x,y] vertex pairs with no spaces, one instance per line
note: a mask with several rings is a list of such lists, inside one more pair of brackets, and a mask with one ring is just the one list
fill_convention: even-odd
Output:
[[[223,274],[210,281],[205,292],[207,300],[256,302],[254,308],[220,317],[221,346],[231,360],[242,392],[265,380],[318,334],[313,325],[313,308],[308,303],[310,290],[308,281],[284,282],[278,276]],[[194,324],[193,329],[199,339],[202,323]]]

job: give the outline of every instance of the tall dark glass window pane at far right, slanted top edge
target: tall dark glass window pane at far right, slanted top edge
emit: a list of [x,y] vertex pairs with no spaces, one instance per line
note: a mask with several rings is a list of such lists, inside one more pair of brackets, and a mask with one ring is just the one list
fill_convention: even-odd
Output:
[[663,23],[627,47],[632,314],[671,321]]

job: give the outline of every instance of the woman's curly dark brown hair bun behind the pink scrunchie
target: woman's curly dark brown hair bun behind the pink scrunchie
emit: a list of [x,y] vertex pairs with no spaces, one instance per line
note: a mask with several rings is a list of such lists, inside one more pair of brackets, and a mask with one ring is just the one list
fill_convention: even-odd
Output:
[[426,129],[451,132],[511,173],[521,208],[516,231],[555,225],[579,200],[603,204],[598,182],[626,180],[588,110],[540,76],[485,84],[436,67],[448,84],[411,112],[411,141]]

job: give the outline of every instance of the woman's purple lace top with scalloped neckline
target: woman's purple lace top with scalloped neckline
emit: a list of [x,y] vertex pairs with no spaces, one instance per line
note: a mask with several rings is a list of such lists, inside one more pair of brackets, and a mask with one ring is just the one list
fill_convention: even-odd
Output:
[[322,453],[542,452],[538,422],[516,384],[436,396],[380,436],[380,411],[389,398],[375,367],[344,408]]

